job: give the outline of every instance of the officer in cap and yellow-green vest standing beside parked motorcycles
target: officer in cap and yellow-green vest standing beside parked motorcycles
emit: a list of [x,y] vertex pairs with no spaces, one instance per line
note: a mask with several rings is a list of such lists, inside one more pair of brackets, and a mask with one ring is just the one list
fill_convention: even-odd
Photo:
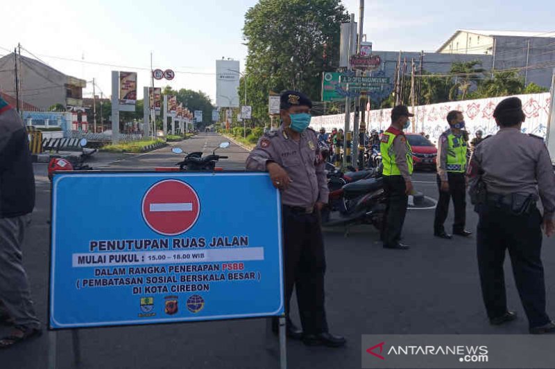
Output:
[[412,149],[404,136],[403,129],[410,127],[410,116],[404,105],[391,110],[391,126],[380,136],[380,151],[384,165],[384,190],[387,195],[387,208],[382,242],[385,249],[409,249],[399,242],[407,214],[409,194],[413,190],[411,174],[413,170]]

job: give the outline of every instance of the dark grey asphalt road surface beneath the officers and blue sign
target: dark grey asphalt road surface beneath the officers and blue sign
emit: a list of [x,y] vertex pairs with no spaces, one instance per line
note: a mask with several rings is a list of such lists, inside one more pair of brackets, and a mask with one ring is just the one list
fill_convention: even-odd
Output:
[[[210,152],[224,138],[200,134],[178,144],[185,151]],[[232,144],[221,161],[226,169],[244,168],[247,153]],[[222,152],[222,154],[223,154]],[[180,159],[170,147],[143,155],[102,154],[95,168],[147,170],[172,166]],[[37,205],[24,244],[24,264],[37,312],[46,321],[50,186],[46,165],[35,165]],[[416,189],[437,199],[435,174],[414,175]],[[76,205],[79,197],[75,194]],[[240,192],[230,195],[240,196]],[[468,229],[477,216],[470,204]],[[502,327],[488,325],[481,302],[475,237],[438,240],[432,235],[434,210],[410,210],[404,226],[409,251],[383,249],[372,227],[359,226],[348,237],[343,229],[325,231],[327,253],[326,305],[332,333],[348,339],[345,348],[287,345],[289,368],[360,368],[361,334],[525,334],[527,321],[509,263],[506,285],[509,307],[518,321]],[[101,222],[101,219],[96,219]],[[446,228],[450,229],[452,211]],[[548,311],[555,317],[555,241],[544,240]],[[549,303],[551,301],[551,303]],[[76,301],[78,304],[79,301]],[[117,308],[117,307],[114,307]],[[296,307],[293,320],[298,322]],[[6,328],[0,334],[7,333]],[[79,368],[278,368],[275,346],[266,348],[264,319],[101,328],[80,331],[83,362]],[[277,340],[271,338],[270,343]],[[46,368],[48,339],[44,334],[0,352],[0,368]],[[71,332],[58,332],[58,368],[74,368]]]

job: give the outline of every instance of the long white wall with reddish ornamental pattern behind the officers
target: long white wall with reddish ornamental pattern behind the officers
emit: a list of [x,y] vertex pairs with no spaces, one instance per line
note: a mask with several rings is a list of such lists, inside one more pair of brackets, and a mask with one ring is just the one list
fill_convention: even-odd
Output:
[[[412,118],[413,127],[408,131],[425,132],[429,134],[434,142],[440,134],[447,129],[446,116],[450,110],[462,111],[465,117],[466,130],[470,137],[481,129],[484,136],[495,134],[497,125],[493,118],[495,106],[507,96],[500,98],[486,98],[479,100],[464,100],[454,102],[443,102],[441,104],[421,105],[414,107]],[[547,122],[549,116],[549,93],[531,93],[528,95],[517,95],[522,100],[522,109],[526,114],[526,121],[522,124],[522,132],[536,134],[545,137],[547,133]],[[409,107],[412,111],[412,108]],[[372,110],[366,113],[366,126],[370,129],[387,129],[391,123],[391,109]],[[351,114],[350,129],[353,127],[354,114]],[[331,132],[333,128],[345,127],[345,114],[331,116],[314,116],[310,126],[316,130],[324,127],[326,132]]]

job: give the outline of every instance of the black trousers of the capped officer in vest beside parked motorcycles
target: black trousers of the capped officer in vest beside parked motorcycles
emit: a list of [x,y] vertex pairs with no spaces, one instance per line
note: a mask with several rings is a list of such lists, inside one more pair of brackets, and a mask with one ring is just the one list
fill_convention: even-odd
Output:
[[382,228],[384,246],[395,246],[401,238],[404,217],[407,215],[409,197],[402,176],[384,176],[384,191],[387,197],[386,213]]

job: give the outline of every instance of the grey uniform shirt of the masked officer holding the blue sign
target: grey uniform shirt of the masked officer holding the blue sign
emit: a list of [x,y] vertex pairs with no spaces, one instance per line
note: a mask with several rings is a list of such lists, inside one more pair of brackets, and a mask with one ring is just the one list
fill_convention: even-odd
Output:
[[327,204],[329,190],[325,166],[313,129],[302,132],[299,141],[293,140],[283,126],[266,132],[250,152],[246,168],[265,172],[268,161],[281,165],[291,179],[289,188],[281,192],[282,204],[306,208],[317,201]]

